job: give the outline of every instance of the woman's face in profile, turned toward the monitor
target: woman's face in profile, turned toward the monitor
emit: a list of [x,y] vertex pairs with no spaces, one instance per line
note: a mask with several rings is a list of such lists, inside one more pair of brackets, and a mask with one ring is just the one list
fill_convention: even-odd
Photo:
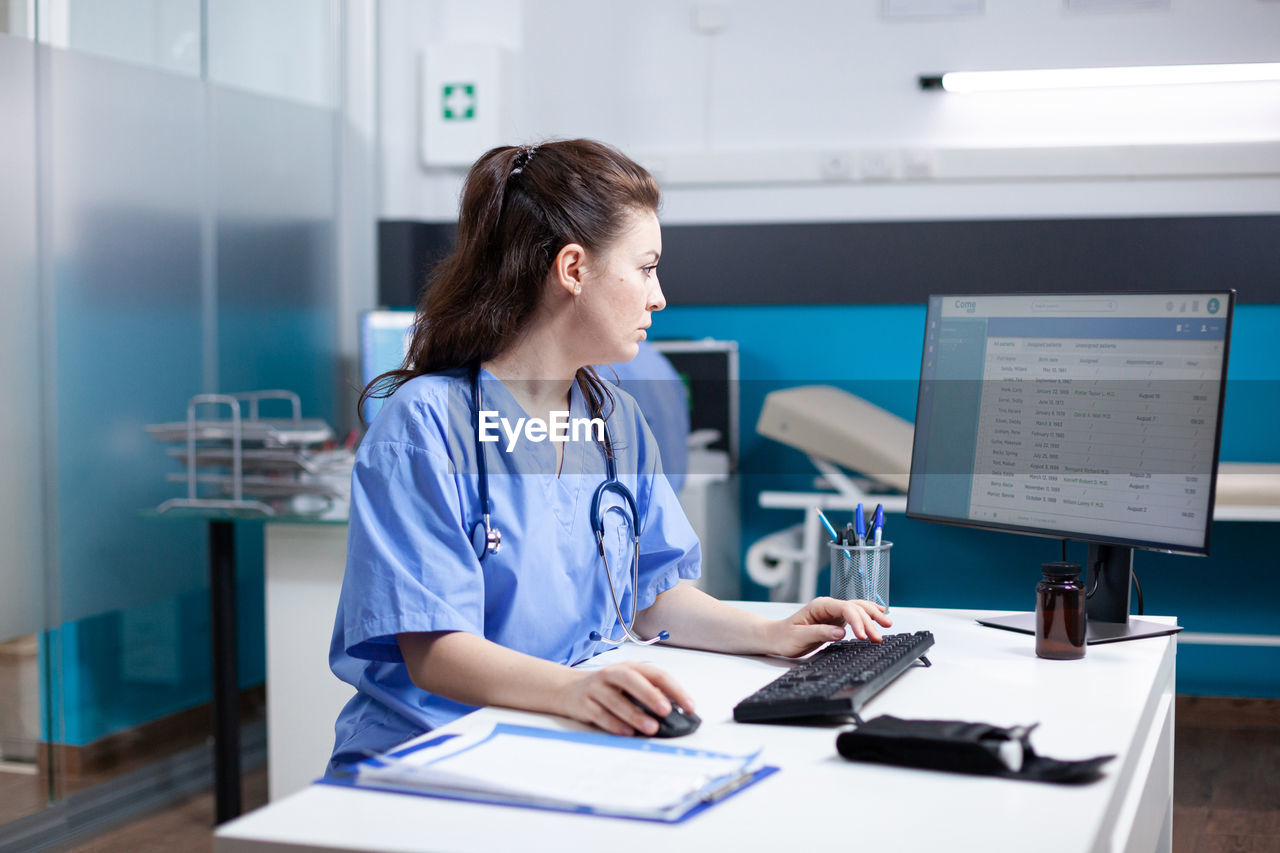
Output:
[[576,298],[584,320],[584,364],[630,361],[640,351],[650,315],[667,306],[658,284],[660,255],[657,214],[637,210],[617,242],[588,259]]

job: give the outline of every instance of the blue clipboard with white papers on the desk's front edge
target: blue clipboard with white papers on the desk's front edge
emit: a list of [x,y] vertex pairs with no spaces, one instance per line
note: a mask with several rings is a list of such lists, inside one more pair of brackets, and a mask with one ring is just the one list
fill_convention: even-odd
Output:
[[339,785],[490,806],[678,824],[778,768],[644,738],[506,722],[366,758]]

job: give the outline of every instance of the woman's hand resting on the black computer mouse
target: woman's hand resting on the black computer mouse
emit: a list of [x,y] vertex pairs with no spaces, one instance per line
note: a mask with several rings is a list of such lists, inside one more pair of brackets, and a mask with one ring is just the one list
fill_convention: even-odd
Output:
[[692,698],[657,666],[623,662],[602,670],[575,671],[561,695],[561,713],[591,724],[611,734],[653,735],[658,721],[635,706],[627,694],[659,716],[671,713],[675,702],[686,711],[694,710]]

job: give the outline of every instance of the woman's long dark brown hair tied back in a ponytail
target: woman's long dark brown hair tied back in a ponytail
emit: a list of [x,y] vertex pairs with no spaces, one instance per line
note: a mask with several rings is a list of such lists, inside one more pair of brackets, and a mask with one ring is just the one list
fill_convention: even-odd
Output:
[[[568,243],[603,251],[627,216],[658,210],[644,167],[591,140],[504,146],[467,173],[453,251],[428,278],[404,364],[360,394],[389,397],[415,377],[477,365],[509,347],[541,298],[552,263]],[[613,394],[591,368],[577,371],[591,416]]]

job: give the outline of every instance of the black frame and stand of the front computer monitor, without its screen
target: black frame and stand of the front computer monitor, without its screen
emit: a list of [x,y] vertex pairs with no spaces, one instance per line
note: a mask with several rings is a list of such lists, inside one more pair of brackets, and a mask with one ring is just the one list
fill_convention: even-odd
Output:
[[[1044,537],[1059,540],[1071,540],[1083,542],[1089,547],[1088,561],[1085,565],[1085,589],[1088,590],[1088,602],[1085,606],[1087,624],[1088,624],[1088,637],[1087,642],[1091,644],[1096,643],[1114,643],[1119,640],[1138,639],[1142,637],[1153,637],[1161,634],[1174,634],[1181,628],[1174,625],[1165,625],[1160,622],[1144,621],[1130,619],[1130,599],[1129,589],[1133,579],[1133,552],[1134,549],[1146,551],[1158,551],[1162,553],[1183,553],[1192,556],[1207,556],[1210,547],[1210,529],[1212,526],[1213,516],[1213,503],[1216,500],[1217,491],[1217,465],[1219,465],[1219,452],[1222,442],[1222,411],[1224,403],[1226,401],[1226,370],[1228,359],[1231,350],[1231,323],[1235,316],[1235,291],[1234,289],[1204,289],[1197,291],[1197,293],[1219,296],[1224,300],[1226,311],[1224,318],[1226,321],[1224,336],[1222,336],[1222,373],[1221,373],[1221,387],[1217,396],[1217,412],[1215,420],[1213,430],[1213,455],[1212,455],[1212,469],[1210,474],[1210,493],[1208,493],[1208,516],[1204,523],[1204,535],[1203,547],[1190,548],[1183,544],[1172,544],[1164,542],[1152,542],[1144,539],[1126,539],[1123,537],[1103,537],[1097,534],[1091,534],[1087,532],[1075,530],[1047,530],[1043,528],[1032,528],[1027,525],[1004,524],[996,521],[986,520],[973,520],[973,519],[957,519],[952,516],[937,516],[927,512],[916,512],[910,508],[910,497],[908,498],[906,516],[918,521],[932,521],[936,524],[948,524],[961,528],[975,528],[983,530],[1000,530],[1006,533],[1021,533],[1027,535]],[[951,300],[951,298],[983,298],[983,297],[1007,297],[1007,296],[1036,296],[1043,298],[1064,297],[1064,298],[1080,298],[1080,297],[1107,297],[1107,296],[1167,296],[1169,298],[1185,298],[1189,296],[1185,291],[1126,291],[1124,293],[1119,292],[1071,292],[1071,293],[987,293],[987,295],[936,295],[931,296],[931,302],[933,300]],[[920,423],[920,407],[923,405],[924,396],[924,380],[925,380],[925,365],[927,365],[927,348],[928,348],[928,313],[925,314],[925,336],[923,350],[920,355],[920,388],[916,393],[916,419],[915,423]],[[916,471],[916,459],[918,455],[914,452],[914,444],[920,441],[920,435],[916,434],[913,442],[911,453],[911,484],[916,480],[916,475],[923,475],[924,471]],[[910,492],[909,492],[910,494]],[[1065,535],[1064,535],[1065,533]],[[1025,634],[1036,633],[1036,615],[1034,613],[1012,613],[1009,616],[997,616],[991,619],[978,620],[983,625],[989,625],[991,628],[1001,628],[1005,630],[1014,630]]]

